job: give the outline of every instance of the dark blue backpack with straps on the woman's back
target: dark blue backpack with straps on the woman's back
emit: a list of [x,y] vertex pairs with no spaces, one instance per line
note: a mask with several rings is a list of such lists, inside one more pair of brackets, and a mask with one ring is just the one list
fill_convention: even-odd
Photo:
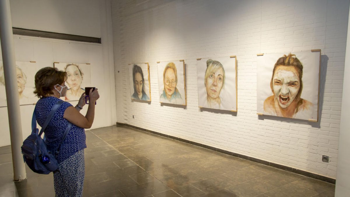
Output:
[[44,132],[45,128],[49,124],[52,116],[57,111],[58,107],[63,103],[62,100],[59,100],[55,106],[51,109],[49,116],[47,117],[43,127],[38,134],[39,129],[36,128],[36,118],[35,110],[33,112],[33,118],[31,119],[31,135],[29,135],[21,147],[24,161],[27,163],[28,167],[36,173],[39,174],[49,174],[52,171],[57,170],[58,162],[56,156],[58,155],[58,150],[61,147],[61,144],[64,138],[67,136],[68,131],[70,130],[71,123],[68,123],[61,143],[58,146],[55,154],[47,150],[45,141],[40,137]]

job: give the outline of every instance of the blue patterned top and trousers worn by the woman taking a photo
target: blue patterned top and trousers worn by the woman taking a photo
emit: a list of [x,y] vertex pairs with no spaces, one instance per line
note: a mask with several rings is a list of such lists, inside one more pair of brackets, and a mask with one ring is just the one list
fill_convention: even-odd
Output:
[[[35,116],[38,124],[42,127],[52,107],[59,101],[56,97],[48,96],[40,99],[35,106]],[[52,116],[44,134],[48,150],[56,152],[68,125],[68,120],[63,118],[64,111],[72,106],[68,102],[63,102]],[[57,161],[58,169],[54,171],[54,185],[56,196],[82,196],[85,163],[84,148],[85,130],[74,124],[68,135],[62,142]]]

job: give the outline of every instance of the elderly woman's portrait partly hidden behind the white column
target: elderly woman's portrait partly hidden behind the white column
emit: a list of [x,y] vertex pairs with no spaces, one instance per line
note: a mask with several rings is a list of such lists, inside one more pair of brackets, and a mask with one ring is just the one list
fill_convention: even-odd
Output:
[[[34,95],[33,91],[34,76],[36,73],[36,63],[35,62],[16,62],[16,80],[17,80],[17,90],[20,100],[20,105],[33,104],[38,100]],[[6,91],[5,91],[5,77],[3,73],[3,65],[0,62],[0,107],[7,106],[6,103]]]

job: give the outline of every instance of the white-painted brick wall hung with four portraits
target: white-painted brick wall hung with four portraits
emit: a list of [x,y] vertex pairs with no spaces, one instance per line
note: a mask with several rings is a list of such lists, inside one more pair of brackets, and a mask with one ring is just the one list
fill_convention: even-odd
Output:
[[[335,178],[348,14],[349,0],[112,1],[118,122]],[[320,121],[258,117],[256,54],[310,49],[322,50]],[[237,114],[200,111],[196,58],[229,55]],[[187,107],[160,106],[156,62],[180,59]],[[149,62],[151,104],[131,102],[135,62]]]

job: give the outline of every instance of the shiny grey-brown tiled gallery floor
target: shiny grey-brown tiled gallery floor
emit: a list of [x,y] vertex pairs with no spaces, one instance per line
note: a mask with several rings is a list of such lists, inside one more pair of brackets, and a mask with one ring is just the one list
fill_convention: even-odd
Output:
[[[333,184],[128,127],[86,136],[84,196],[334,196]],[[10,152],[0,148],[0,197],[54,196],[52,173],[27,168],[27,180],[14,183]]]

